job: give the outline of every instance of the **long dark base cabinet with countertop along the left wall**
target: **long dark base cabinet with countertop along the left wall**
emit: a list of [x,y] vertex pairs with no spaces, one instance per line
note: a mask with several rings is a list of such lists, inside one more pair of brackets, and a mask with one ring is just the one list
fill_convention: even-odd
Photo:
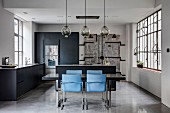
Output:
[[44,64],[0,68],[0,101],[16,101],[41,83]]

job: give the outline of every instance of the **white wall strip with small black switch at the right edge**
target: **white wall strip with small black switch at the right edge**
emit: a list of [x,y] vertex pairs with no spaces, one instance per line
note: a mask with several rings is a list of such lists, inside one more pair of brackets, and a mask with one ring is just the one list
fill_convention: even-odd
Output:
[[162,103],[170,107],[170,0],[162,0]]

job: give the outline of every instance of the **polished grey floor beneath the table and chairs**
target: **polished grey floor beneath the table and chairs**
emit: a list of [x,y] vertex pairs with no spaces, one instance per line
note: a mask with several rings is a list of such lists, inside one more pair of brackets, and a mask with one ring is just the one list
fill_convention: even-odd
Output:
[[0,113],[170,113],[160,99],[127,82],[117,82],[109,110],[105,109],[100,94],[87,95],[89,110],[81,110],[81,94],[67,97],[64,109],[56,108],[54,85],[45,83],[18,101],[0,102]]

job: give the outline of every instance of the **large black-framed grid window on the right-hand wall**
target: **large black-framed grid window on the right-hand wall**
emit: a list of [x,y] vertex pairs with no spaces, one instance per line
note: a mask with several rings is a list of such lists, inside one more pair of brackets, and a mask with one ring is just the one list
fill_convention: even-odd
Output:
[[137,24],[137,60],[161,70],[161,10]]

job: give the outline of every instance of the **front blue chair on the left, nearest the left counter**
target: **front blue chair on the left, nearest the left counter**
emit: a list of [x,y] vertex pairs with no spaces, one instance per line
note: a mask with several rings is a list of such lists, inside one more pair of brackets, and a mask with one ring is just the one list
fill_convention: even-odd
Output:
[[81,74],[62,74],[62,103],[61,109],[64,108],[65,93],[69,92],[80,92],[82,93],[82,109],[84,109],[83,104],[83,82],[81,80]]

